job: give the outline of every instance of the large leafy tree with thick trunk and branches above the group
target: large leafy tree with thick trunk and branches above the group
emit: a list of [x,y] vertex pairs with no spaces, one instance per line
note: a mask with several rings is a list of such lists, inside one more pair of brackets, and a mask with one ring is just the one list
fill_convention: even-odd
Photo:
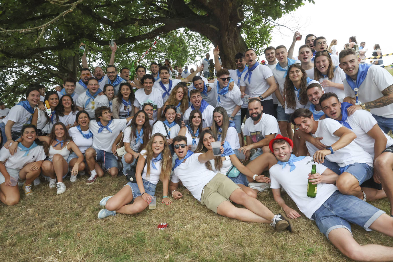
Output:
[[[261,51],[272,21],[313,0],[3,0],[0,11],[0,99],[13,102],[31,83],[77,78],[78,46],[89,66],[106,66],[108,41],[118,45],[116,66],[129,66],[160,36],[146,60],[180,66],[219,46],[224,67],[248,47]],[[105,68],[104,68],[105,69]],[[13,94],[10,96],[10,94]]]

